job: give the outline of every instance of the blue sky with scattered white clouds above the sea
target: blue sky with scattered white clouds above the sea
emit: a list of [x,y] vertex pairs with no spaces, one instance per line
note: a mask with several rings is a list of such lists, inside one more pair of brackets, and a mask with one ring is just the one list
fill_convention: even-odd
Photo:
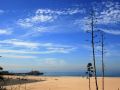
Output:
[[[92,62],[86,42],[91,6],[96,8],[97,28],[105,33],[105,68],[120,71],[119,1],[1,0],[0,65],[12,71],[85,70]],[[100,70],[100,54],[96,57]]]

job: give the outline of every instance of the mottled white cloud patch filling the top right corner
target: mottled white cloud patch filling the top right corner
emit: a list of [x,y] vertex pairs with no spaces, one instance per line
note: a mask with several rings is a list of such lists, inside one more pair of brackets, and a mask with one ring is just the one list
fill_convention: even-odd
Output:
[[102,11],[99,9],[98,24],[116,24],[120,22],[120,3],[102,2]]

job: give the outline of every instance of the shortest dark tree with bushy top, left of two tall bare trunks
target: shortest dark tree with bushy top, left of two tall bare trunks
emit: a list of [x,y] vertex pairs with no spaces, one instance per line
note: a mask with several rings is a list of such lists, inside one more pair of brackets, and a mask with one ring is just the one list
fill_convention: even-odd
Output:
[[87,78],[89,79],[89,90],[91,90],[91,84],[90,84],[90,78],[93,76],[93,66],[92,66],[92,63],[88,63],[87,64]]

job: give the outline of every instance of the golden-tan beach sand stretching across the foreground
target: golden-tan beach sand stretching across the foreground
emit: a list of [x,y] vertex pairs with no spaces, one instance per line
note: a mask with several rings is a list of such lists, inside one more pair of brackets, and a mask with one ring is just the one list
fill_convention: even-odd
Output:
[[[39,81],[10,85],[7,88],[9,90],[89,90],[86,77],[26,76],[24,78]],[[91,90],[95,90],[94,82],[94,78],[91,78]],[[98,85],[99,90],[102,90],[100,77],[98,78]],[[118,88],[120,88],[120,78],[105,77],[105,90],[118,90]]]

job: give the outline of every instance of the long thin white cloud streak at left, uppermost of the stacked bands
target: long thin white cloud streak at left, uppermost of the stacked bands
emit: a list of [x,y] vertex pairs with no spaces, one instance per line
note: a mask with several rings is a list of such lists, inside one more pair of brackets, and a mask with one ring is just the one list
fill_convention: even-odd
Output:
[[54,44],[54,43],[38,43],[38,42],[30,42],[30,41],[23,41],[19,39],[7,39],[0,41],[1,45],[5,46],[13,46],[14,47],[24,47],[24,48],[31,48],[31,49],[37,49],[37,48],[45,48],[47,50],[52,51],[63,51],[67,50],[74,50],[75,47],[70,45],[62,45],[62,44]]

